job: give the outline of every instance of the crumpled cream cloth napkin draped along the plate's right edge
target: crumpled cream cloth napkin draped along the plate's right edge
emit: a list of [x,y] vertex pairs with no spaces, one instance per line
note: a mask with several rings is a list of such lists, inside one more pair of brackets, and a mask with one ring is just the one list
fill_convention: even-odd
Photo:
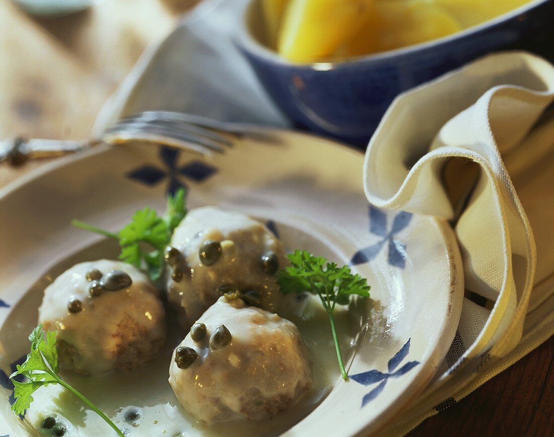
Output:
[[[491,369],[514,360],[516,346],[530,350],[522,337],[535,284],[536,246],[503,157],[521,174],[554,151],[554,116],[547,111],[553,100],[554,67],[546,60],[523,52],[494,54],[398,96],[368,145],[367,199],[380,208],[449,220],[466,289],[442,373],[389,435],[406,433],[447,406],[441,402],[452,404],[464,388],[468,394],[476,381],[480,385],[493,377]],[[554,207],[554,189],[540,187],[529,198],[541,199],[538,223]],[[541,225],[539,235],[548,233],[550,228]],[[552,258],[540,260],[541,272],[550,277]],[[542,285],[537,291],[542,312],[551,319],[554,302],[548,297],[554,284]],[[531,331],[525,332],[526,342]],[[546,340],[553,332],[551,320],[535,334]]]

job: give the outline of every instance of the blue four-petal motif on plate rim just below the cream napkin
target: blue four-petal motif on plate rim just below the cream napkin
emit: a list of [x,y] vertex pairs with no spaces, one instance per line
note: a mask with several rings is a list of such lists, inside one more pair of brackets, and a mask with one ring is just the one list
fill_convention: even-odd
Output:
[[399,212],[392,220],[391,230],[387,230],[387,215],[380,209],[369,205],[368,214],[370,217],[370,232],[373,235],[381,237],[376,244],[358,250],[351,259],[354,265],[368,263],[375,259],[381,248],[388,243],[388,264],[403,269],[406,267],[406,244],[404,244],[396,235],[406,229],[412,214]]

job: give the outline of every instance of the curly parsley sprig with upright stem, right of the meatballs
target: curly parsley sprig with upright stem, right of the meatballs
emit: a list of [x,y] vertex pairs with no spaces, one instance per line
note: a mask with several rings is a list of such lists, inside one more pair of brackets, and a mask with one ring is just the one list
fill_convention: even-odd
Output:
[[366,279],[352,274],[348,266],[339,267],[336,263],[328,263],[322,256],[314,256],[305,250],[295,250],[288,258],[291,265],[279,271],[281,292],[291,294],[307,291],[320,297],[329,315],[338,366],[342,378],[347,381],[348,374],[342,361],[333,315],[335,305],[347,305],[352,295],[370,297],[370,286],[367,285]]

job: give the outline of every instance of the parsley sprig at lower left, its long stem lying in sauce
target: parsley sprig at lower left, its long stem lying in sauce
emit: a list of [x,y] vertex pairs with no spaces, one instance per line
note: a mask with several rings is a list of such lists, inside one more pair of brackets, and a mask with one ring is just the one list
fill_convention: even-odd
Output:
[[[124,434],[117,428],[115,423],[107,418],[96,405],[59,377],[58,351],[56,349],[56,336],[58,333],[55,331],[44,332],[42,327],[43,325],[40,324],[30,333],[31,352],[27,355],[27,359],[23,364],[17,365],[16,372],[13,372],[9,376],[15,387],[14,397],[16,398],[16,402],[12,405],[12,410],[16,414],[23,414],[33,402],[33,393],[37,389],[49,384],[60,384],[83,400],[85,404],[100,415],[116,431],[117,435],[123,437]],[[18,375],[24,376],[27,378],[27,381],[16,381],[14,378]]]

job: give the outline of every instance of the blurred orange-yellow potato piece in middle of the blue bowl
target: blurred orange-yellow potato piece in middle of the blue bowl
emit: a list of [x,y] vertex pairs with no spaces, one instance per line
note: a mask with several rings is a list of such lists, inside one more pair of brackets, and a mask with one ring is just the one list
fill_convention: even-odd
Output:
[[336,56],[357,56],[444,37],[462,27],[448,12],[425,0],[377,0],[356,35]]

